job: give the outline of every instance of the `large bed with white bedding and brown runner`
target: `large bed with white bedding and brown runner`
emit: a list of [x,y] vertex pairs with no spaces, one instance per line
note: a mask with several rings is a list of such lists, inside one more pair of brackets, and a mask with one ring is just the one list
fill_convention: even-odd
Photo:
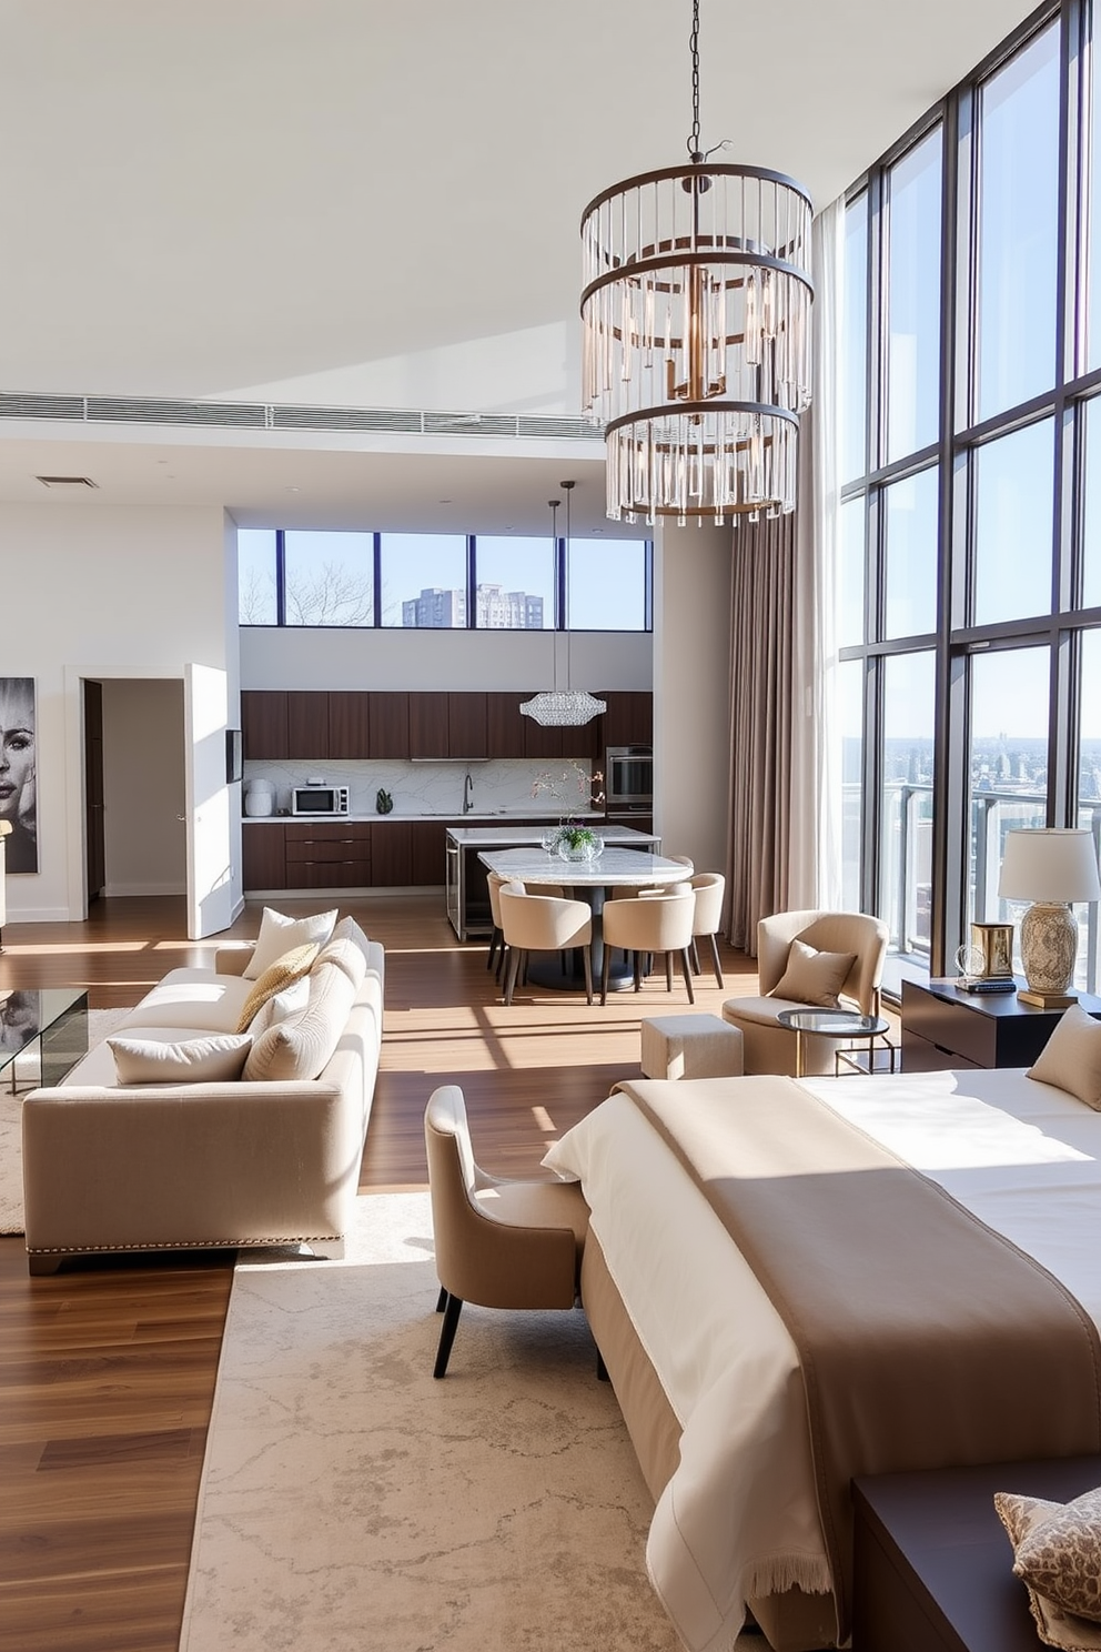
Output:
[[748,1612],[776,1652],[843,1644],[852,1475],[1101,1449],[1101,1113],[1065,1090],[639,1080],[545,1163],[593,1211],[583,1300],[690,1652]]

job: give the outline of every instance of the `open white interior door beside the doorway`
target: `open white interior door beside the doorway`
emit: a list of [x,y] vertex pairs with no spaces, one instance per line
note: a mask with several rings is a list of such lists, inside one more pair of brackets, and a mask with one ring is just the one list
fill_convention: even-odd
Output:
[[226,672],[213,666],[185,666],[187,905],[191,940],[216,935],[233,922],[228,710]]

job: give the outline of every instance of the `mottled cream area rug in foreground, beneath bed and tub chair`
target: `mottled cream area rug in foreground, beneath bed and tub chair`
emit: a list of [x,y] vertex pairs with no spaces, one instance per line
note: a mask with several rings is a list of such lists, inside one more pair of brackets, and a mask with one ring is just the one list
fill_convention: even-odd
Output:
[[371,1194],[345,1262],[238,1265],[180,1652],[680,1645],[584,1315],[467,1305],[436,1381],[431,1232]]

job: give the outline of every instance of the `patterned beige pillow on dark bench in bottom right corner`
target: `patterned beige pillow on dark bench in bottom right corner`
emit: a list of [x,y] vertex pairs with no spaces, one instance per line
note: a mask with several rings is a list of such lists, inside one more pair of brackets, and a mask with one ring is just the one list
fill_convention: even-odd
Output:
[[1070,1503],[995,1492],[994,1507],[1014,1545],[1014,1576],[1028,1588],[1042,1639],[1058,1647],[1101,1647],[1101,1490]]

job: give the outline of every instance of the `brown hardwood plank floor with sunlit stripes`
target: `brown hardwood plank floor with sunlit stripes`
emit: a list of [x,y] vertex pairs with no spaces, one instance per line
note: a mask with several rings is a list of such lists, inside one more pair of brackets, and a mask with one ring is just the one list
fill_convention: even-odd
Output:
[[[287,900],[287,912],[319,900]],[[540,1175],[540,1160],[639,1072],[639,1021],[687,1008],[664,973],[604,1009],[583,993],[518,988],[512,1006],[461,945],[442,895],[342,902],[386,948],[381,1066],[365,1191],[426,1184],[423,1113],[462,1085],[479,1160]],[[261,904],[210,942],[185,937],[183,900],[101,900],[86,923],[8,923],[0,990],[87,986],[92,1008],[135,1003],[170,968],[256,935]],[[726,986],[697,976],[697,1008],[748,991],[753,965],[723,948]],[[175,1652],[195,1503],[231,1284],[231,1254],[89,1259],[31,1279],[0,1237],[0,1649]]]

